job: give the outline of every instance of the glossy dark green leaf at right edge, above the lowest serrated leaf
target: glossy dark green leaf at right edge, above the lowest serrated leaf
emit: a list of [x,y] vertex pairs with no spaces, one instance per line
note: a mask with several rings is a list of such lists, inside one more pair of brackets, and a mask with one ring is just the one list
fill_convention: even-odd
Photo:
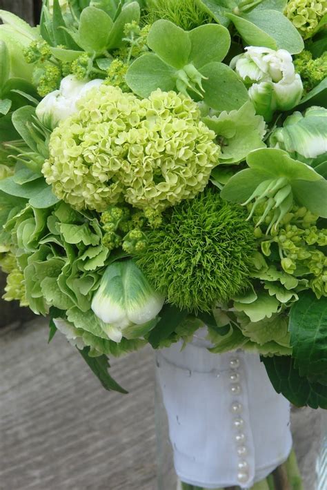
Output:
[[290,342],[301,376],[327,373],[327,297],[317,300],[311,291],[299,295],[290,310]]

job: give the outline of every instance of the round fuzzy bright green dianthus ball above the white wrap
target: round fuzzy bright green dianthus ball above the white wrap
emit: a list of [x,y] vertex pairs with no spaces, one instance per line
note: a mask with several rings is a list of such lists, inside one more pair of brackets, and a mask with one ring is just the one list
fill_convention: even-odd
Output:
[[253,226],[241,206],[223,201],[215,190],[166,211],[161,226],[145,235],[137,265],[179,308],[210,311],[249,284]]

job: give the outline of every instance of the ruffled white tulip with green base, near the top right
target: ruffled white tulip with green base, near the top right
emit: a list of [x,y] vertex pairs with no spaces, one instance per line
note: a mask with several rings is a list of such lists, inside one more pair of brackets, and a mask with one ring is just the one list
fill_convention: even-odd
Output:
[[248,86],[257,114],[266,121],[272,119],[275,110],[290,110],[301,99],[301,77],[286,50],[248,46],[246,53],[232,59],[230,67]]

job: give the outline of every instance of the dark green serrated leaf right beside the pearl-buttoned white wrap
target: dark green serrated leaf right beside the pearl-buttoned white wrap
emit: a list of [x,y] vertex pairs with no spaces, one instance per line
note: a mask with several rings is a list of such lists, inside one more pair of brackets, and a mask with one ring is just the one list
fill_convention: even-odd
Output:
[[290,356],[262,358],[270,382],[277,393],[284,395],[295,406],[327,409],[327,386],[299,375]]

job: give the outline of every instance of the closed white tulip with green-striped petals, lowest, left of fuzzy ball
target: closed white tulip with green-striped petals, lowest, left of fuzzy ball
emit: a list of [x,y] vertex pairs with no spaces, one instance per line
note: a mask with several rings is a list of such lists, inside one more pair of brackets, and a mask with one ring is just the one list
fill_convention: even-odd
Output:
[[102,320],[108,337],[138,337],[157,323],[164,296],[157,293],[132,260],[110,264],[92,300],[92,310]]

